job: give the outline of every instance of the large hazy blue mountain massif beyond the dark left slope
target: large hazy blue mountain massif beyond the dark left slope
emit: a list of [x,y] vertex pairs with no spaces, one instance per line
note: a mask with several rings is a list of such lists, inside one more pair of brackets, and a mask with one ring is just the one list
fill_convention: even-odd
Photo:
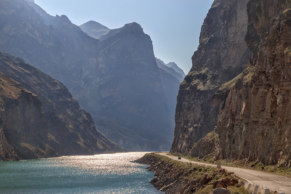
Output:
[[[157,142],[154,150],[169,150],[174,122],[168,107],[173,104],[167,104],[150,37],[133,22],[100,40],[65,15],[50,16],[32,2],[0,0],[2,51],[64,83],[90,114]],[[175,99],[177,94],[169,95]]]

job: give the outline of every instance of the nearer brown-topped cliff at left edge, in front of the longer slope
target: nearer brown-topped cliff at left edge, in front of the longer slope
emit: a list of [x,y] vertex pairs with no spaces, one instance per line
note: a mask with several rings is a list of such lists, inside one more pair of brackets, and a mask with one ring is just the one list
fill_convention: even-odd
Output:
[[59,156],[48,145],[40,99],[1,72],[0,79],[0,160]]

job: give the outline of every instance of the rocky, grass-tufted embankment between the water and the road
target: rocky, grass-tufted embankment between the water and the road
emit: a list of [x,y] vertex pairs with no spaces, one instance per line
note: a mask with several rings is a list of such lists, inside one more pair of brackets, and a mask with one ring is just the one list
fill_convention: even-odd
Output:
[[232,172],[209,166],[173,161],[154,153],[145,154],[137,163],[150,165],[147,169],[155,172],[152,185],[168,194],[210,194],[214,188],[228,188],[231,193],[248,193],[231,176]]

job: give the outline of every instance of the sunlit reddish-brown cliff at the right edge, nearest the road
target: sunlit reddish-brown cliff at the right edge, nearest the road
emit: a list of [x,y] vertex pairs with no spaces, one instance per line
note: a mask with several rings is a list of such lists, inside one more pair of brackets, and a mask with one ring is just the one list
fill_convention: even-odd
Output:
[[[291,2],[251,0],[248,15],[253,70],[225,98],[217,128],[221,157],[290,166]],[[256,34],[260,39],[251,39]]]

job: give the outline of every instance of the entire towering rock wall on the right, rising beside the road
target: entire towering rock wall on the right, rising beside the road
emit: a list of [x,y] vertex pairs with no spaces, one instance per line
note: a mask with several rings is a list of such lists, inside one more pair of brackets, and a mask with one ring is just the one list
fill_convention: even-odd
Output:
[[180,86],[173,152],[291,165],[290,17],[290,1],[214,1]]

